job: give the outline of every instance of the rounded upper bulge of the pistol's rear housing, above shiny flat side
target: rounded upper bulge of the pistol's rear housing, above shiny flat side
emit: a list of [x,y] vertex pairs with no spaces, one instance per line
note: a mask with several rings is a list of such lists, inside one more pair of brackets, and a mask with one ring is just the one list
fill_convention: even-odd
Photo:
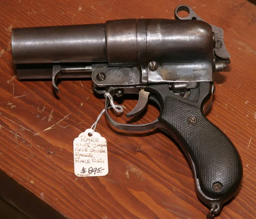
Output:
[[148,62],[192,63],[213,59],[212,28],[194,20],[147,20]]

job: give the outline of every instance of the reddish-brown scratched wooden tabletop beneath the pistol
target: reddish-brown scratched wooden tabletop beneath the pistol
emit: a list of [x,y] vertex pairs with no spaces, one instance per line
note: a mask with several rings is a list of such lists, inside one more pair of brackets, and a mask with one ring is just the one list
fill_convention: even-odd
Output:
[[[239,194],[219,218],[255,218],[256,6],[246,0],[1,0],[0,168],[67,218],[205,218],[209,209],[195,194],[185,156],[161,131],[121,133],[103,116],[96,131],[108,141],[110,171],[107,176],[75,176],[73,139],[95,122],[104,98],[93,93],[90,80],[62,81],[56,98],[50,81],[18,81],[12,63],[12,28],[174,19],[179,4],[224,29],[231,64],[215,73],[207,118],[239,150],[244,175]],[[121,104],[127,113],[136,100]],[[140,122],[158,114],[149,107]]]

